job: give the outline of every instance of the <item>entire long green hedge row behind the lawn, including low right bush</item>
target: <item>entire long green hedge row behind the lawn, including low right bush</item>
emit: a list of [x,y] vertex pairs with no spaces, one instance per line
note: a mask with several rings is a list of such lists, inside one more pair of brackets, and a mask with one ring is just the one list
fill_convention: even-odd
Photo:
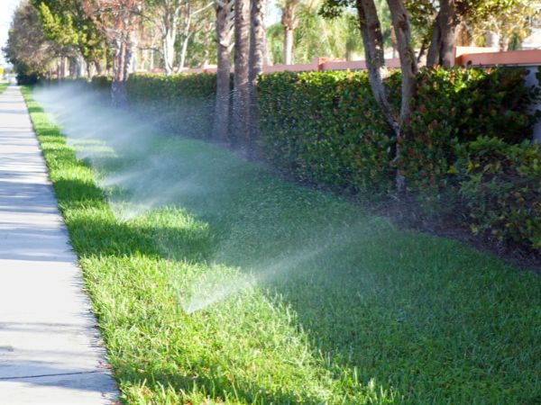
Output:
[[[397,169],[430,212],[474,233],[541,248],[539,146],[529,142],[538,95],[518,68],[423,70],[402,157],[366,72],[277,73],[257,85],[261,155],[299,181],[381,199]],[[399,73],[390,99],[399,109]],[[95,78],[106,88],[110,80]],[[130,107],[174,133],[209,139],[215,75],[133,75]]]

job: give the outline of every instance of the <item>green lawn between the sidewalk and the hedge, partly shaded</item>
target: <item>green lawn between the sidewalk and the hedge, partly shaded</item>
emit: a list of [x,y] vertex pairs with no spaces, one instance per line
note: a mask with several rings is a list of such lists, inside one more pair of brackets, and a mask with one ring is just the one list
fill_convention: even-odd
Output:
[[538,275],[197,140],[79,161],[24,94],[126,403],[541,402]]

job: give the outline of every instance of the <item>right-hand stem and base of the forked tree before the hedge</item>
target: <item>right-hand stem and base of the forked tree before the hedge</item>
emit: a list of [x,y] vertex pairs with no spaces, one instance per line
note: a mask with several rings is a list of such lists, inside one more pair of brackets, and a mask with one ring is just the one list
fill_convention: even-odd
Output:
[[[409,25],[408,12],[402,0],[387,0],[390,16],[397,40],[397,49],[400,57],[400,71],[402,73],[402,96],[400,101],[400,130],[397,133],[395,159],[400,158],[403,129],[408,125],[411,116],[413,97],[417,93],[417,59],[415,50],[411,46],[411,28]],[[397,192],[405,190],[406,182],[400,170],[396,173]]]

